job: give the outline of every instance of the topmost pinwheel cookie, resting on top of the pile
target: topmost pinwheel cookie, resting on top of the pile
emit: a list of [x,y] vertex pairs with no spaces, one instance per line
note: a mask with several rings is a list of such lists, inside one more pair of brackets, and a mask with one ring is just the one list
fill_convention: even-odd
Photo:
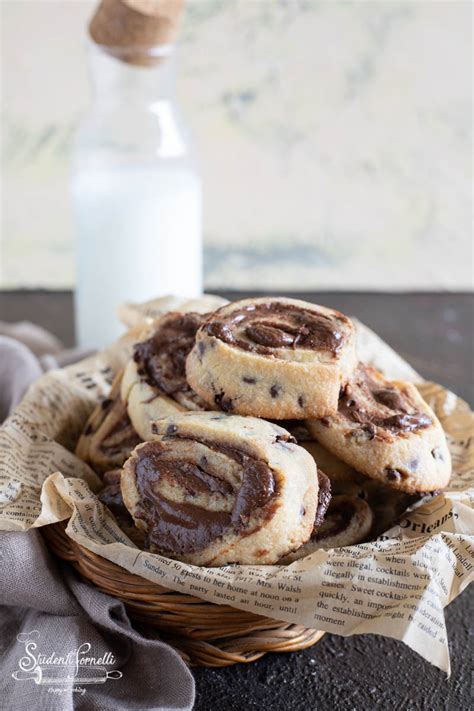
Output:
[[186,377],[209,406],[272,419],[336,412],[356,365],[351,321],[296,299],[246,299],[210,315]]

